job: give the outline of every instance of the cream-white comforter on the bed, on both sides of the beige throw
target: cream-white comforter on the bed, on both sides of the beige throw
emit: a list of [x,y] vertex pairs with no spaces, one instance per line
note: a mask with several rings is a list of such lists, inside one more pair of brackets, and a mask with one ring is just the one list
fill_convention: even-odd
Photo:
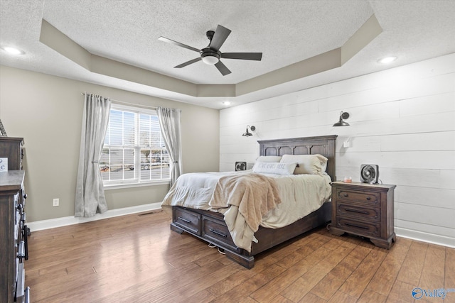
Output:
[[[196,172],[181,175],[166,194],[161,206],[165,206],[164,209],[166,206],[185,206],[225,214],[228,209],[217,210],[210,206],[218,180],[223,176],[248,173],[251,171]],[[267,228],[280,228],[294,223],[319,209],[331,197],[331,178],[325,173],[323,175],[262,175],[273,178],[282,201],[262,217],[260,225]],[[232,238],[235,240],[235,237]],[[254,241],[254,238],[251,240]],[[238,243],[236,244],[239,246]],[[245,248],[243,246],[239,247]],[[249,247],[245,249],[249,250]]]

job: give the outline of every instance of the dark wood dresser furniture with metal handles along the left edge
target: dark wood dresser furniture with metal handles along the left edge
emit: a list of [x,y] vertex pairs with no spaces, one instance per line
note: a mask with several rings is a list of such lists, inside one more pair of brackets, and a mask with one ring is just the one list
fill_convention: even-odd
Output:
[[22,138],[0,137],[0,158],[8,158],[8,171],[0,172],[0,303],[30,301],[23,267],[29,230],[22,146]]

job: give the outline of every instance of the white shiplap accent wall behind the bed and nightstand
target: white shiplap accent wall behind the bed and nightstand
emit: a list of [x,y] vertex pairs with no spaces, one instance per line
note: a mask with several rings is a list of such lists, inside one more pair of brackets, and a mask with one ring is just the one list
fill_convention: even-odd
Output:
[[[341,111],[350,126],[333,127]],[[251,166],[259,139],[333,134],[338,180],[378,164],[397,185],[397,235],[455,247],[455,54],[223,109],[220,170]]]

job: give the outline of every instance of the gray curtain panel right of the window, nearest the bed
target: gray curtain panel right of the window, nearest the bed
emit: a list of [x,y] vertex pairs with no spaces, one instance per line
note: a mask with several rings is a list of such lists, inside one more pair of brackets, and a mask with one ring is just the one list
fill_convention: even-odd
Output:
[[159,107],[158,113],[161,136],[172,162],[171,187],[182,173],[182,143],[181,143],[181,110]]

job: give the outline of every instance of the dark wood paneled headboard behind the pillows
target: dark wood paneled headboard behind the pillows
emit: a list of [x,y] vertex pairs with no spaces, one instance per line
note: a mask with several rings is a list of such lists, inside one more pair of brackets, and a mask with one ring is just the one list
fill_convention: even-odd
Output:
[[328,159],[327,174],[336,181],[335,141],[337,135],[305,138],[261,140],[259,155],[314,155],[321,154]]

